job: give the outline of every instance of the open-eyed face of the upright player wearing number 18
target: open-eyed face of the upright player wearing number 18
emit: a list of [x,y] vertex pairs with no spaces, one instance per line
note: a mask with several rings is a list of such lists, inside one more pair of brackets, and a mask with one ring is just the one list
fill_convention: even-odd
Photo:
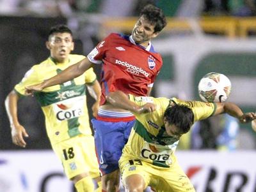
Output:
[[74,50],[74,42],[70,33],[54,33],[46,42],[51,51],[51,57],[62,63],[68,59],[68,54]]

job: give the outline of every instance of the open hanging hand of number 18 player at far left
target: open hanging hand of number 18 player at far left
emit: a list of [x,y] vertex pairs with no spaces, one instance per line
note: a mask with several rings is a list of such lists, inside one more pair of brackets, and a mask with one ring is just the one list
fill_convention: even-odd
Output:
[[26,142],[24,140],[24,137],[28,137],[28,133],[26,132],[26,129],[21,126],[12,126],[12,142],[15,145],[18,145],[20,147],[26,147]]

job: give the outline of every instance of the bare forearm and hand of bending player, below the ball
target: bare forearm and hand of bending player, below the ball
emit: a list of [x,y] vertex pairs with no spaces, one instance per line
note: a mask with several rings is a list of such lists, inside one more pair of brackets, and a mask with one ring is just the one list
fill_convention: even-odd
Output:
[[216,103],[216,112],[214,115],[227,113],[233,117],[239,119],[240,122],[250,122],[253,119],[256,119],[256,114],[253,112],[243,113],[241,108],[239,108],[235,103],[231,102],[223,102],[223,103]]

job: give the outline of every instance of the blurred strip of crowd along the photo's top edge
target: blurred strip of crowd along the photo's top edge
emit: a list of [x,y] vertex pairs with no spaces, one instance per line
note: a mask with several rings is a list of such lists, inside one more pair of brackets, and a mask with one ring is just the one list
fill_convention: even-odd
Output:
[[0,0],[0,14],[70,17],[77,13],[99,13],[125,17],[137,16],[148,3],[162,8],[168,17],[250,17],[256,14],[255,0],[125,0],[125,6],[118,0]]

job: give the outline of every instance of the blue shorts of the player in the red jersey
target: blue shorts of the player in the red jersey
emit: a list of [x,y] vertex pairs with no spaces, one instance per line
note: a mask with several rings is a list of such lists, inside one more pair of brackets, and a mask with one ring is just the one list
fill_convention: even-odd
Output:
[[135,120],[108,122],[92,119],[99,169],[102,175],[118,169],[122,149],[127,143]]

